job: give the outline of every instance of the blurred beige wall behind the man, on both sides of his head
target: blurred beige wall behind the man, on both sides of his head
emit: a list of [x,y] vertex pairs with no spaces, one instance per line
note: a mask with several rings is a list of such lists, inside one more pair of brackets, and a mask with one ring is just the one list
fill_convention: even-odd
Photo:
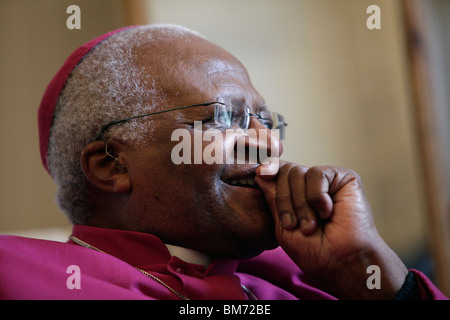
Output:
[[[66,27],[71,4],[81,8],[80,30]],[[379,30],[366,27],[372,4]],[[357,171],[380,234],[433,276],[400,0],[1,0],[0,233],[65,241],[70,225],[40,163],[42,93],[77,46],[159,22],[195,29],[240,59],[287,118],[283,158]]]

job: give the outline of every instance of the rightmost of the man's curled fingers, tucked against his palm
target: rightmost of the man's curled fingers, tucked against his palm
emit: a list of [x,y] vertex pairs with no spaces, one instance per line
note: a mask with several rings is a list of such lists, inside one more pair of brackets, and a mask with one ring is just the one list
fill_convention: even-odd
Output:
[[333,212],[330,184],[336,172],[330,167],[312,167],[306,173],[306,198],[321,219],[328,219]]

